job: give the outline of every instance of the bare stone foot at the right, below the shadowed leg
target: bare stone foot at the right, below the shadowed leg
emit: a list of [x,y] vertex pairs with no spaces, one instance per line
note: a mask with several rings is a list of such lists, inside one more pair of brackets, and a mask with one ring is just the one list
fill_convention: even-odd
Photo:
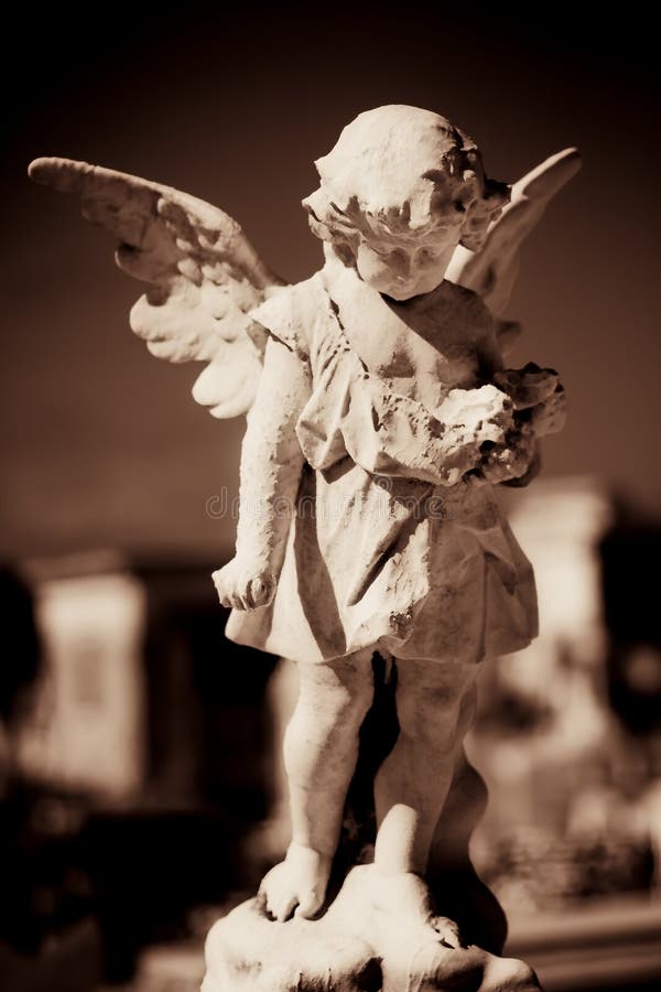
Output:
[[416,931],[421,941],[435,940],[445,947],[459,948],[464,942],[456,923],[438,916],[425,882],[412,872],[384,874],[375,864],[354,869],[360,887],[373,909],[399,920],[402,930]]

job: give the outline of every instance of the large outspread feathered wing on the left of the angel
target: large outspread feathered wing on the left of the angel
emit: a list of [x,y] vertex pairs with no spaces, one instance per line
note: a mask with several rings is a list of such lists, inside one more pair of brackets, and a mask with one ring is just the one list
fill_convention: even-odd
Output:
[[83,215],[120,240],[120,269],[150,283],[131,311],[152,355],[206,362],[193,396],[218,418],[246,413],[266,343],[250,319],[282,281],[227,214],[170,186],[87,162],[36,159],[30,175],[80,196]]

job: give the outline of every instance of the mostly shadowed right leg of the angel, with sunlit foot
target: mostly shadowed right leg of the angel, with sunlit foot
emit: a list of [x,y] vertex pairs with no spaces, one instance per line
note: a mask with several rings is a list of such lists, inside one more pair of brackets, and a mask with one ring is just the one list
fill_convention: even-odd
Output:
[[384,903],[454,946],[456,928],[434,915],[422,880],[475,713],[477,667],[410,659],[397,665],[400,733],[375,781],[376,874]]

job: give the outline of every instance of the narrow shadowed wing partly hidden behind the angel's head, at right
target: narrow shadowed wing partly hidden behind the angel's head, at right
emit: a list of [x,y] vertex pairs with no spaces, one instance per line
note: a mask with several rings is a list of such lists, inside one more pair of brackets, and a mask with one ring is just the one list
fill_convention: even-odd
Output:
[[581,168],[581,155],[567,148],[546,159],[511,187],[509,204],[489,228],[479,251],[458,246],[445,278],[478,293],[501,317],[519,270],[519,249],[550,201]]

